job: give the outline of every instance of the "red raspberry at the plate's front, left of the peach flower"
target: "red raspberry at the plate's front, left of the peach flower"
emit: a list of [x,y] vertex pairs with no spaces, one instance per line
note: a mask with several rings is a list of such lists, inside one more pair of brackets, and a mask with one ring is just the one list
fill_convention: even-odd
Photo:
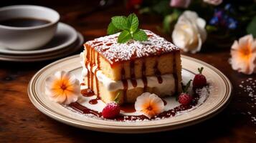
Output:
[[103,117],[107,119],[113,119],[120,114],[120,107],[117,103],[111,102],[103,109]]

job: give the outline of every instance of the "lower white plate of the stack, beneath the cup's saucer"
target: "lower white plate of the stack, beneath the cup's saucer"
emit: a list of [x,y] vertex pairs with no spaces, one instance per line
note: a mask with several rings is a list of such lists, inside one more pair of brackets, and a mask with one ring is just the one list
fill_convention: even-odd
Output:
[[48,52],[46,54],[35,54],[35,55],[5,55],[0,54],[0,60],[2,61],[19,61],[19,62],[33,62],[33,61],[44,61],[49,59],[56,59],[60,57],[67,56],[69,54],[82,49],[82,44],[84,43],[84,38],[82,34],[77,32],[77,40],[75,43],[60,49],[57,51]]

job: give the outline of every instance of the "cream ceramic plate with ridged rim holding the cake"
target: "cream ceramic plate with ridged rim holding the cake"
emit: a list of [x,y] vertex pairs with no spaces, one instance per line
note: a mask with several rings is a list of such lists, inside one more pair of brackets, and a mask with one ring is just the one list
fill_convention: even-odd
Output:
[[[203,66],[204,75],[207,77],[210,86],[213,88],[202,104],[188,112],[184,112],[184,114],[181,113],[166,119],[143,122],[117,122],[86,116],[85,114],[74,112],[60,104],[51,102],[44,94],[45,79],[54,74],[55,71],[60,70],[70,71],[75,74],[77,78],[82,79],[82,77],[80,77],[82,67],[80,65],[79,55],[55,61],[38,71],[29,82],[28,94],[34,106],[42,113],[57,121],[83,129],[115,133],[145,133],[161,132],[186,127],[191,124],[202,122],[219,113],[229,102],[232,85],[222,72],[203,61],[193,59],[189,56],[181,56],[181,60],[183,79],[193,79],[194,73],[197,72],[197,68]],[[169,103],[171,104],[171,102]],[[81,102],[81,104],[85,104],[86,106],[86,102]]]

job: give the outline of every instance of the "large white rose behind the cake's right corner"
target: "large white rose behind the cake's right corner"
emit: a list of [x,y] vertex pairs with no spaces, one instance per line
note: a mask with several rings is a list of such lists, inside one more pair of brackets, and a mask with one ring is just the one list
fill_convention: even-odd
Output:
[[204,29],[206,21],[194,11],[184,11],[174,26],[172,39],[174,44],[184,51],[196,53],[200,51],[202,43],[207,39]]

